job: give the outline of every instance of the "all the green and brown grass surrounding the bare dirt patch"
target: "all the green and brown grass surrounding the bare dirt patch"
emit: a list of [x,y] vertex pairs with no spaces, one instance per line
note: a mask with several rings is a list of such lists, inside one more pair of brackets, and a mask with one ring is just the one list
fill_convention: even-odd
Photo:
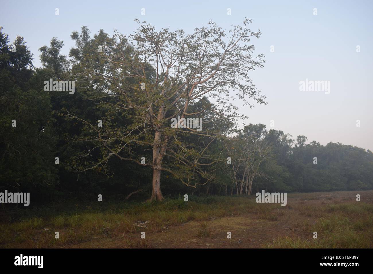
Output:
[[[210,220],[244,214],[260,220],[259,223],[278,222],[272,226],[292,220],[288,225],[298,233],[266,243],[263,245],[266,248],[372,248],[372,202],[356,202],[350,198],[338,200],[337,195],[333,199],[320,198],[320,195],[290,193],[285,207],[257,204],[253,197],[191,196],[189,202],[181,198],[163,202],[65,203],[18,209],[0,214],[0,248],[55,248],[97,237],[119,238],[128,248],[148,248],[151,242],[140,236],[134,237],[134,233],[158,233],[164,227],[189,221],[200,223],[194,232],[196,237],[218,239],[226,232],[214,229]],[[310,220],[302,221],[298,216]],[[140,221],[148,221],[146,228],[137,226]],[[315,231],[317,239],[313,239]],[[59,232],[59,239],[55,238],[55,232]]]

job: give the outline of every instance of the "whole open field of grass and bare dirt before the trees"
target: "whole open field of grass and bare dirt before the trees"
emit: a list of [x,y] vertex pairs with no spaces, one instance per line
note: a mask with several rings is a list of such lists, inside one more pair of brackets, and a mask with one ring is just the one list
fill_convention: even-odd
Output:
[[189,202],[59,204],[0,216],[1,248],[373,247],[373,190],[290,193],[286,206],[257,204],[255,196],[189,196]]

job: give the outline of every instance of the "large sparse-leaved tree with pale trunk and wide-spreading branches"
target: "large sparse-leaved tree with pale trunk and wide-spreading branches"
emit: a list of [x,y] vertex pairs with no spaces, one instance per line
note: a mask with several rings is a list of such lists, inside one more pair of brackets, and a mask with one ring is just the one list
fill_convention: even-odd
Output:
[[[153,169],[151,199],[162,200],[161,171],[188,186],[211,180],[206,166],[219,161],[219,153],[212,155],[209,147],[242,118],[231,98],[250,107],[253,101],[265,104],[248,75],[264,63],[263,54],[254,56],[250,44],[261,32],[250,31],[249,19],[228,32],[209,22],[189,35],[180,29],[157,32],[150,24],[137,22],[139,28],[129,37],[116,32],[109,38],[100,32],[90,40],[86,28],[81,35],[72,35],[77,45],[70,51],[75,58],[72,73],[80,88],[99,91],[94,96],[107,108],[102,127],[96,126],[97,121],[84,120],[87,130],[95,134],[86,140],[103,157],[83,170],[105,166],[112,155],[149,166]],[[206,96],[213,104],[199,103]],[[125,127],[115,122],[118,113],[126,117]],[[68,110],[67,115],[82,120]],[[178,116],[181,122],[172,127],[172,119]],[[184,118],[202,118],[203,127],[183,128]],[[131,157],[134,151],[145,155],[150,148],[152,158],[145,164]]]

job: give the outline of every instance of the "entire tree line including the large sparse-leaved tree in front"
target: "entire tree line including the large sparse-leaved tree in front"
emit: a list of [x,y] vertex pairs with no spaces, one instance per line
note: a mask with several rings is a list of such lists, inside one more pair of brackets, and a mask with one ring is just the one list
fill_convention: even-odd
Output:
[[[0,191],[37,204],[373,189],[370,150],[242,124],[230,92],[266,104],[248,78],[265,62],[249,24],[230,35],[213,22],[190,35],[138,22],[129,36],[91,36],[83,26],[68,56],[56,37],[40,45],[42,67],[1,28]],[[51,79],[75,91],[46,90]]]

